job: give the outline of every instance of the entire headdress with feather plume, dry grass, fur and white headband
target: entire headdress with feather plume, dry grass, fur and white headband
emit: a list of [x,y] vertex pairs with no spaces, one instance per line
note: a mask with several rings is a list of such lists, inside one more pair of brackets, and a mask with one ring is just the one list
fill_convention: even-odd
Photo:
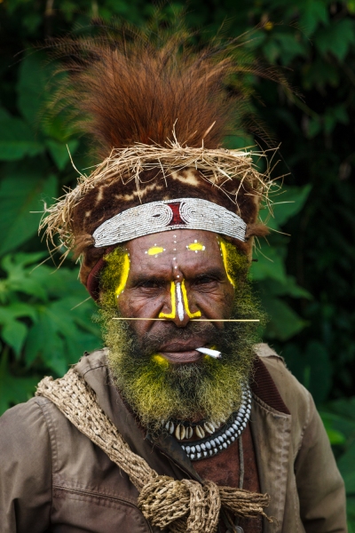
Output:
[[60,41],[67,71],[54,109],[70,110],[91,135],[99,163],[46,211],[47,239],[82,256],[80,278],[97,296],[103,256],[114,245],[180,227],[225,235],[245,254],[264,235],[267,195],[247,150],[224,139],[241,128],[246,74],[274,77],[241,55],[241,42],[199,51],[184,28]]

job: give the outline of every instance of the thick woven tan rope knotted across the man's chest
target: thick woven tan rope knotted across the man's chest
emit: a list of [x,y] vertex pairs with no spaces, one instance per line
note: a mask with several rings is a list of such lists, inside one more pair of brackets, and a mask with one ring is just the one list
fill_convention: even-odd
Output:
[[158,475],[130,450],[117,428],[96,401],[96,394],[75,370],[63,378],[43,378],[36,396],[51,400],[63,415],[91,442],[127,473],[138,489],[138,507],[153,526],[171,533],[215,533],[221,505],[236,516],[256,518],[269,504],[267,494],[232,487],[218,487],[212,481],[177,481]]

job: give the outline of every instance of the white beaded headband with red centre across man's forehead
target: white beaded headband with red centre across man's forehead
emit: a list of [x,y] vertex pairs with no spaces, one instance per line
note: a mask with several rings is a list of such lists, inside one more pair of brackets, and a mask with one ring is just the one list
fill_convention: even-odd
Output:
[[245,241],[247,224],[217,203],[179,198],[144,203],[106,220],[93,233],[94,246],[111,246],[175,229],[203,229]]

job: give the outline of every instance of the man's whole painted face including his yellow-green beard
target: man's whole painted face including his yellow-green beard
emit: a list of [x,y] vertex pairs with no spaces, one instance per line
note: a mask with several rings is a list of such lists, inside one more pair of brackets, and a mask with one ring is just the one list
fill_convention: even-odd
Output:
[[[151,431],[161,431],[162,420],[225,420],[239,408],[256,324],[224,320],[262,317],[247,275],[248,258],[207,231],[140,237],[106,256],[100,316],[108,365]],[[222,358],[197,352],[202,346]]]

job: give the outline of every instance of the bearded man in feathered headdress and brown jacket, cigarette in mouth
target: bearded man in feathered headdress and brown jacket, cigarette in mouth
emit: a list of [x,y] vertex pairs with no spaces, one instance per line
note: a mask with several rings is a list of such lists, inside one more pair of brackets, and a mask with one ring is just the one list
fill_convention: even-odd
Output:
[[174,36],[65,46],[59,102],[106,159],[44,223],[81,255],[106,347],[1,419],[1,532],[346,531],[312,397],[257,344],[267,179],[219,147],[238,66]]

